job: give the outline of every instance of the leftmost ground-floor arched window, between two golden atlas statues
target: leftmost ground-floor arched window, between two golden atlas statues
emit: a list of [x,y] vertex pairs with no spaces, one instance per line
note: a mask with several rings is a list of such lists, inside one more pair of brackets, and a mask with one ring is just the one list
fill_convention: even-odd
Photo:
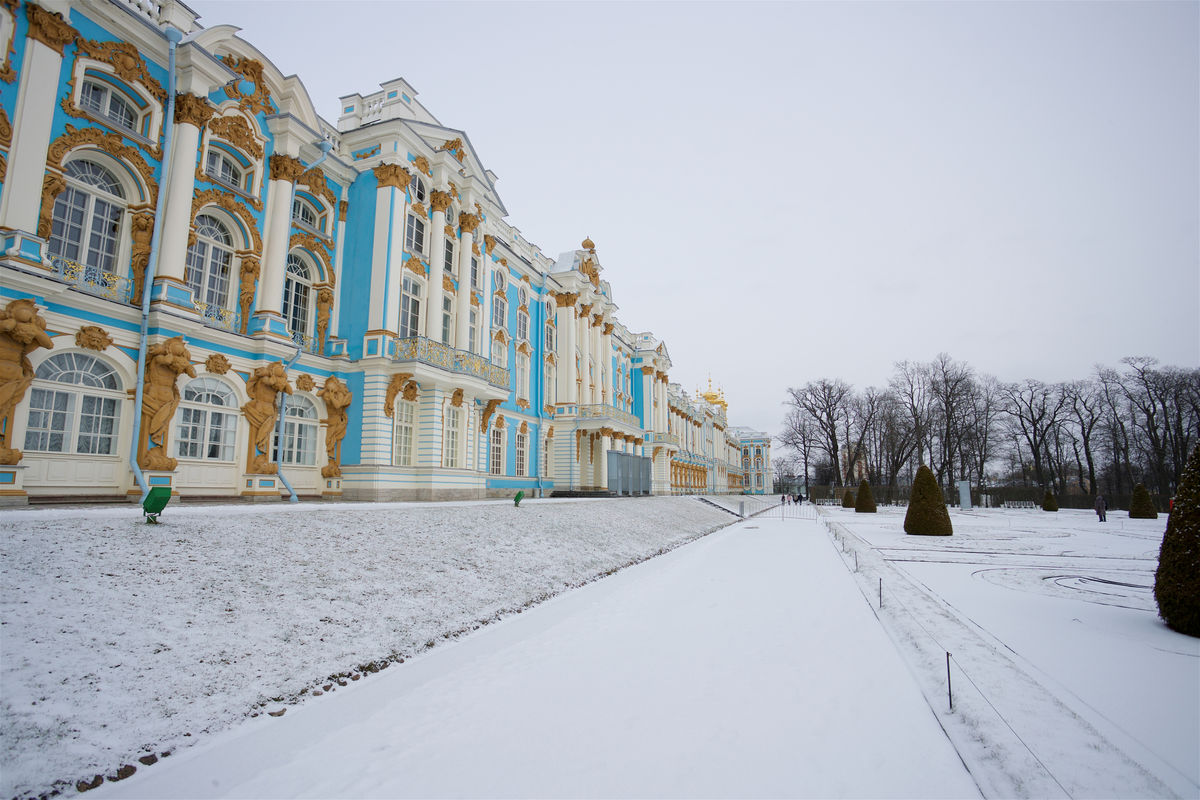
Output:
[[60,353],[34,373],[25,450],[112,456],[121,384],[112,367],[83,353]]

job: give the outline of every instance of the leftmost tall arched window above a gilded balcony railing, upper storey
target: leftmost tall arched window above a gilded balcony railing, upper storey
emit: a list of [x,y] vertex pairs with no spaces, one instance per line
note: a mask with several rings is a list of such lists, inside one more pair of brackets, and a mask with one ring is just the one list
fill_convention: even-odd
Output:
[[72,161],[64,170],[67,187],[54,200],[49,252],[102,272],[114,272],[125,191],[94,161]]

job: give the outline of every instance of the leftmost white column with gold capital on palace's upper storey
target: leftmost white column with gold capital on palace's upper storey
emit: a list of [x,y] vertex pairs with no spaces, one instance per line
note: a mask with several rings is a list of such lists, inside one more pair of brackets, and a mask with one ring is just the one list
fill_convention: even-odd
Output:
[[12,146],[0,199],[0,228],[32,234],[37,231],[46,154],[59,100],[62,48],[74,41],[76,31],[62,14],[32,2],[25,6],[25,16],[29,31],[17,107],[12,109]]

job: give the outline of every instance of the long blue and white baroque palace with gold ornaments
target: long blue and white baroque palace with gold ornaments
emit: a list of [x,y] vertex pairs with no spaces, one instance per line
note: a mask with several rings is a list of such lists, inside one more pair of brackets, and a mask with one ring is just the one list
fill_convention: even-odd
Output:
[[235,34],[0,0],[0,500],[769,491],[466,132],[403,79],[328,122]]

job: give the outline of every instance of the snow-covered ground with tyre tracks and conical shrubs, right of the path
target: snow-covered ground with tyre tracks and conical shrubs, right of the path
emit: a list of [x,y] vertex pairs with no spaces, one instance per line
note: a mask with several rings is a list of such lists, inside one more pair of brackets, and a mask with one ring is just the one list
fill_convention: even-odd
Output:
[[1200,796],[1200,640],[1152,591],[1165,517],[952,510],[937,537],[821,513],[935,706],[953,654],[944,724],[985,794]]

